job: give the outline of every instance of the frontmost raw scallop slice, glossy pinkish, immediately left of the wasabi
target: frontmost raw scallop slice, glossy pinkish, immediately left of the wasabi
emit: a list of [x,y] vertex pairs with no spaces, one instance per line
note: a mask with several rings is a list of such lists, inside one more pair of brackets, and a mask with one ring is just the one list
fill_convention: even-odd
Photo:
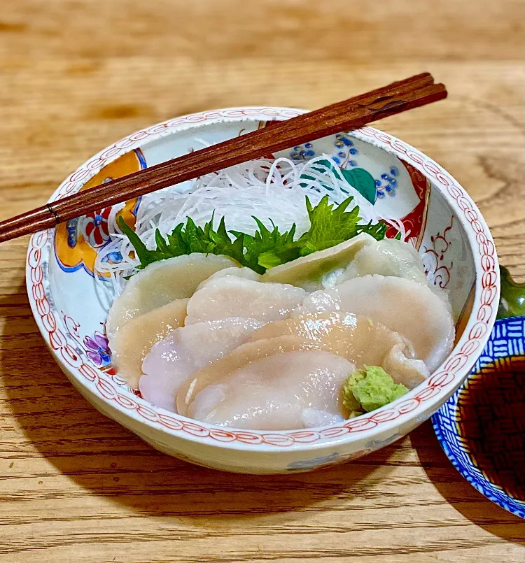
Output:
[[355,366],[316,350],[262,357],[206,387],[191,418],[253,430],[290,430],[344,420],[342,385]]

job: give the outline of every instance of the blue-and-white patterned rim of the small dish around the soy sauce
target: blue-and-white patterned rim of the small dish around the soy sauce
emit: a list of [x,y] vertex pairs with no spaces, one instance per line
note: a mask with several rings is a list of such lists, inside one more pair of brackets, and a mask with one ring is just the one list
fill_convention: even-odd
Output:
[[[472,455],[468,441],[461,431],[462,423],[464,422],[462,420],[464,408],[461,405],[461,397],[465,393],[465,389],[468,388],[469,383],[472,384],[474,382],[473,384],[477,385],[475,378],[479,381],[479,377],[481,379],[486,377],[484,370],[489,366],[494,364],[500,366],[499,375],[501,376],[506,373],[506,366],[509,365],[509,360],[517,359],[522,361],[525,356],[524,334],[525,317],[496,321],[491,338],[486,344],[482,355],[477,360],[474,369],[472,369],[472,376],[463,383],[462,387],[452,395],[432,418],[437,439],[459,473],[468,480],[472,487],[475,487],[489,500],[520,518],[525,518],[525,501],[515,498],[504,487],[493,482],[493,479],[484,471],[484,467]],[[510,392],[512,392],[512,385],[514,383],[518,385],[517,380],[499,380],[498,386],[505,386],[507,388],[510,386]],[[478,408],[481,411],[483,406]],[[517,425],[519,425],[519,422]],[[484,439],[484,436],[482,439]],[[505,455],[508,455],[508,453]]]

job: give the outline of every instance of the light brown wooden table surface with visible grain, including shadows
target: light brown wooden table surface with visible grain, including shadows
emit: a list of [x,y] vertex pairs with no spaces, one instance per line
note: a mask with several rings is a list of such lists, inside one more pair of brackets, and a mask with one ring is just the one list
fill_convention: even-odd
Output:
[[[432,72],[449,99],[381,127],[448,169],[525,274],[521,0],[3,0],[0,218],[100,148],[235,105],[316,108]],[[156,452],[69,385],[0,247],[6,563],[525,561],[522,520],[459,476],[427,422],[352,464],[236,476]]]

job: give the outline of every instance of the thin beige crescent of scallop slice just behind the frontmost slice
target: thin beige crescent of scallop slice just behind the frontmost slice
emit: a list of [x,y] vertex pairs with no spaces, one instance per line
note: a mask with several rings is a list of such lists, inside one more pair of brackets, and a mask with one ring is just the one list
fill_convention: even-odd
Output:
[[250,362],[283,352],[324,350],[326,348],[328,347],[321,342],[307,341],[297,336],[278,336],[242,344],[228,355],[197,371],[179,387],[176,397],[177,412],[181,415],[187,415],[188,406],[198,392]]

